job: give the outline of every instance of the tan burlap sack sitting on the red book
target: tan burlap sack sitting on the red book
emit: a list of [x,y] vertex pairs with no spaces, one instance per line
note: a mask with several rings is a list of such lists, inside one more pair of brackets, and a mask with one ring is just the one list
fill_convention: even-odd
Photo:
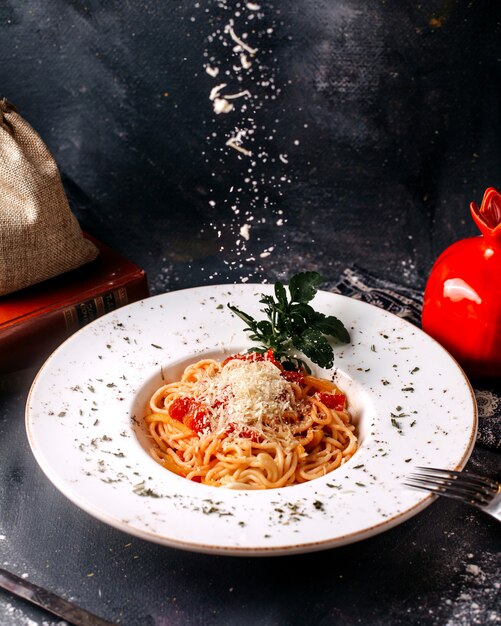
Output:
[[0,99],[0,296],[92,261],[47,146]]

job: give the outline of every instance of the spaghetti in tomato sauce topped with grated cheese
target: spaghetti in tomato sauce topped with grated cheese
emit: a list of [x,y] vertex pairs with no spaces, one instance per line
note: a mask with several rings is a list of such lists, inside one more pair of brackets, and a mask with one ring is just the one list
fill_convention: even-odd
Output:
[[284,370],[271,351],[198,361],[157,389],[149,408],[153,458],[206,485],[303,483],[345,463],[358,446],[336,385]]

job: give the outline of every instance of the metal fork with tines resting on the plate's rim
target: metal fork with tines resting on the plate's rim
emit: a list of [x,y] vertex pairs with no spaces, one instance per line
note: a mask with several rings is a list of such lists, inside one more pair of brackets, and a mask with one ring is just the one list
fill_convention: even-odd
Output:
[[404,483],[408,487],[460,500],[501,521],[501,483],[471,472],[416,467]]

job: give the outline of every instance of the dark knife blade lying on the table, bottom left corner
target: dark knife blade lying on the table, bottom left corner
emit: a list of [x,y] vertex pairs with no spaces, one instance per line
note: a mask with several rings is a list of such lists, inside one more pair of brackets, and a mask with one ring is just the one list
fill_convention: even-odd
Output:
[[11,574],[2,568],[0,568],[0,587],[29,602],[33,602],[33,604],[61,617],[69,624],[74,624],[74,626],[111,626],[111,622],[107,622],[97,617],[97,615],[81,609],[76,604],[57,596],[52,591],[42,589],[42,587],[19,578],[19,576]]

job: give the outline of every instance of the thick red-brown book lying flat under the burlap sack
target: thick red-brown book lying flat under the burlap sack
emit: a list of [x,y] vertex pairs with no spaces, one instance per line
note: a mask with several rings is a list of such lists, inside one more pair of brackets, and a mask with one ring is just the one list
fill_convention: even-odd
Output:
[[144,270],[85,236],[99,248],[94,261],[0,297],[0,375],[41,365],[82,326],[148,297]]

